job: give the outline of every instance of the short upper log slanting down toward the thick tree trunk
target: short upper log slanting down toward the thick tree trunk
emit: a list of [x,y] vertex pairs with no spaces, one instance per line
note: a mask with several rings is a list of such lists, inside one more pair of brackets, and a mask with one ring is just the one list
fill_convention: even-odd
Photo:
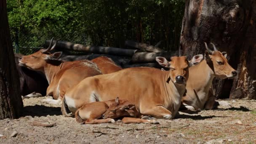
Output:
[[126,40],[125,46],[138,48],[138,49],[141,49],[142,51],[148,51],[148,52],[155,52],[155,53],[165,52],[163,49],[157,48],[153,45],[148,45],[146,43],[137,43],[132,40]]

